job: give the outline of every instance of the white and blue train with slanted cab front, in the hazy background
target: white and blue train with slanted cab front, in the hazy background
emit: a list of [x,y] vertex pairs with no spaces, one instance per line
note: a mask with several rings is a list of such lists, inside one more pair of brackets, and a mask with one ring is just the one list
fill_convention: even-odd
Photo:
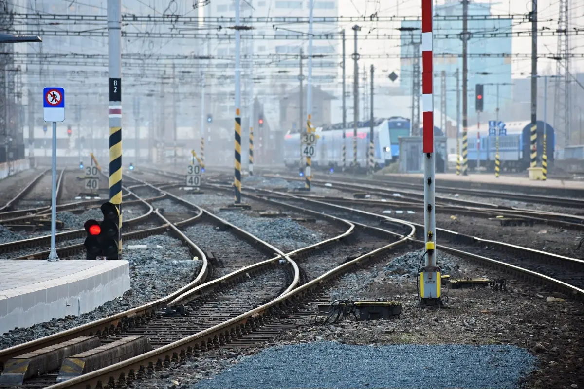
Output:
[[[343,129],[342,124],[329,127],[317,127],[319,136],[312,157],[312,166],[315,168],[336,168],[343,166],[343,132],[346,147],[346,166],[353,166],[353,124],[348,123]],[[374,120],[373,127],[374,157],[376,169],[397,160],[399,155],[399,136],[409,136],[410,122],[403,117]],[[369,153],[370,122],[359,122],[357,128],[357,167],[367,166]],[[300,134],[288,131],[284,137],[284,163],[286,166],[298,166],[300,162]]]

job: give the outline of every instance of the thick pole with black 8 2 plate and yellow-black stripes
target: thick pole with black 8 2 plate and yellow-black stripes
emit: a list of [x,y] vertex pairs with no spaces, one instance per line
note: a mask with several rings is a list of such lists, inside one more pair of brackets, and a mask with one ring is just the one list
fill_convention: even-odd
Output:
[[121,0],[107,0],[109,33],[109,199],[119,212],[121,253]]

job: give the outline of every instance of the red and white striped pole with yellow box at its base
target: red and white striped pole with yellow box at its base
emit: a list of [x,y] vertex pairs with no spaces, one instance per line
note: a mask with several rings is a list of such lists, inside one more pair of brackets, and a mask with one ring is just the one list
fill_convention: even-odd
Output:
[[436,266],[434,199],[434,104],[432,57],[432,0],[422,0],[422,132],[424,160],[424,233],[426,261],[420,274],[423,305],[440,304],[440,268]]

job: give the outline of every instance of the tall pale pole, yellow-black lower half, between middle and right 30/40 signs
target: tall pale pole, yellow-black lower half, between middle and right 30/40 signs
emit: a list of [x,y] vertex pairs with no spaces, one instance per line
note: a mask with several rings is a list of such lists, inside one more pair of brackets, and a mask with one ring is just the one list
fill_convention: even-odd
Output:
[[235,0],[235,204],[241,204],[241,32],[239,0]]

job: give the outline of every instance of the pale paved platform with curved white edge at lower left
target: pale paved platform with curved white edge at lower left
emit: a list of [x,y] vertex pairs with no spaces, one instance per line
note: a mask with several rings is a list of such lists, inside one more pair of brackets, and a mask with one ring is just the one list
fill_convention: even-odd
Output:
[[0,334],[80,315],[130,289],[128,261],[0,261]]

